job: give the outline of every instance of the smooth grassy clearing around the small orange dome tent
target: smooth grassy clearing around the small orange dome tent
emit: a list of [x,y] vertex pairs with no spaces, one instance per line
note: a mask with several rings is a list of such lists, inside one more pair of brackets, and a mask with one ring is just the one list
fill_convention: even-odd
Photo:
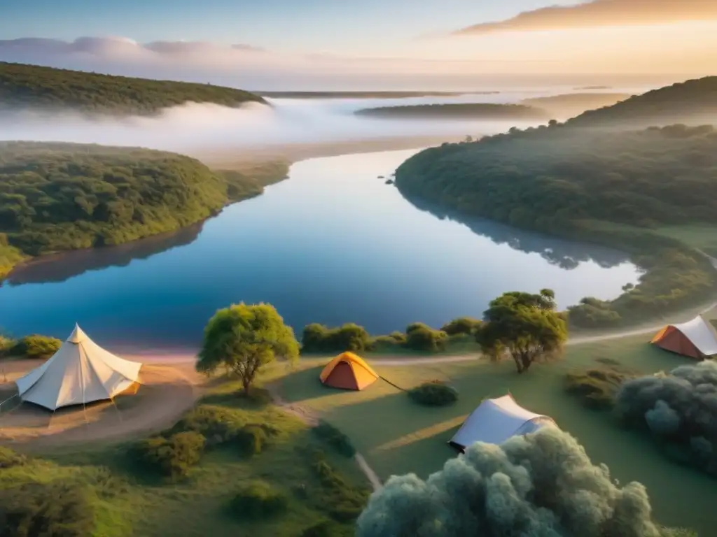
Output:
[[282,397],[318,412],[342,430],[382,480],[392,474],[414,472],[423,478],[442,468],[455,453],[447,446],[465,417],[485,397],[510,391],[526,407],[554,417],[585,446],[592,460],[606,463],[621,483],[645,484],[658,521],[667,526],[692,527],[709,535],[717,524],[712,508],[716,483],[701,473],[666,460],[649,437],[619,428],[609,412],[585,408],[565,390],[569,372],[605,367],[606,359],[619,362],[635,374],[672,369],[686,359],[646,343],[649,335],[614,339],[567,348],[566,359],[540,365],[518,375],[512,364],[460,362],[419,364],[411,367],[371,363],[381,376],[410,389],[422,382],[444,380],[460,397],[450,407],[420,407],[404,392],[379,381],[364,392],[323,387],[318,374],[327,358],[302,359],[292,372],[276,369]]

